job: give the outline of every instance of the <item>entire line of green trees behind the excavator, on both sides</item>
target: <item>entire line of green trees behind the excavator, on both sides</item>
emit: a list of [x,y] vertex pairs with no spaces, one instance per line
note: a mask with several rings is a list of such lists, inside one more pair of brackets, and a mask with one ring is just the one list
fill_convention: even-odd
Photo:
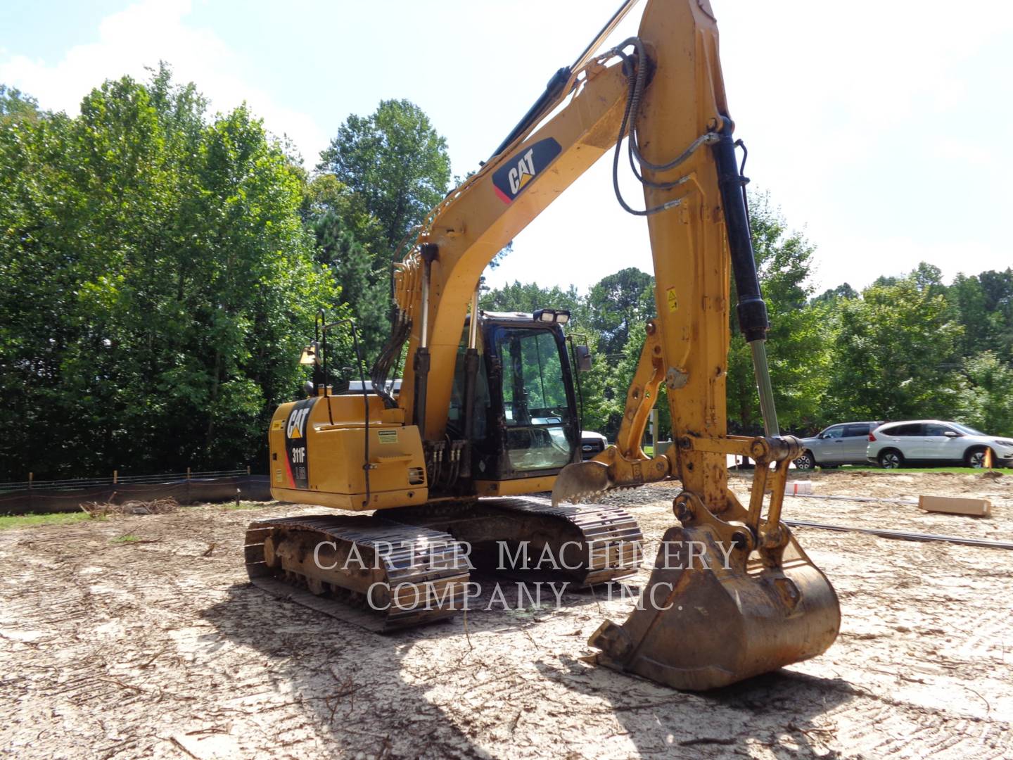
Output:
[[[389,329],[391,264],[457,180],[407,100],[349,117],[307,168],[245,105],[209,112],[165,65],[104,82],[75,117],[0,85],[0,480],[262,469],[319,310],[355,318],[369,364]],[[923,264],[816,295],[813,247],[766,198],[753,217],[784,428],[937,415],[1013,432],[1011,271],[947,286]],[[482,305],[570,309],[567,329],[599,357],[581,378],[585,426],[615,435],[650,276],[622,270],[587,294],[515,283]],[[732,331],[730,426],[757,432]],[[348,335],[334,339],[333,365],[353,366]]]

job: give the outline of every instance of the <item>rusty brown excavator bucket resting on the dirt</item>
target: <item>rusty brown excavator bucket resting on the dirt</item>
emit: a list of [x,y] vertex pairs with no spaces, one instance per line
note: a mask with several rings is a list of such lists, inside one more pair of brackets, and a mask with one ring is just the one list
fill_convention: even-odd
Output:
[[666,532],[626,622],[606,621],[592,635],[600,665],[702,691],[815,657],[834,642],[837,595],[783,523],[782,545],[758,550],[746,531],[709,513],[700,519],[683,510],[682,520]]

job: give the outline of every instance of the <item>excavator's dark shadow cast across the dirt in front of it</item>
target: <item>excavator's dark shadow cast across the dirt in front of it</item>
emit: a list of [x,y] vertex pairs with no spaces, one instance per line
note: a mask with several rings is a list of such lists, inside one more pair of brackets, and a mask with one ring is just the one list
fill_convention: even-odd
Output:
[[[596,604],[593,595],[567,594],[563,609],[548,613],[547,619],[574,612],[590,612],[597,618]],[[297,711],[312,724],[309,730],[324,741],[325,752],[340,750],[353,757],[360,752],[375,758],[489,757],[476,744],[477,737],[484,747],[494,747],[497,755],[510,756],[511,731],[499,724],[510,724],[519,706],[526,710],[522,705],[550,698],[549,689],[557,702],[561,697],[563,704],[571,705],[566,712],[573,719],[583,712],[601,715],[604,707],[618,721],[615,732],[640,755],[741,756],[759,744],[776,757],[799,752],[836,757],[825,741],[832,739],[826,726],[821,728],[814,718],[853,696],[840,679],[784,670],[704,694],[679,692],[635,676],[591,668],[566,654],[549,655],[557,649],[549,643],[534,663],[516,663],[516,679],[511,676],[515,667],[511,652],[499,653],[498,663],[483,665],[496,670],[483,684],[505,679],[500,686],[514,706],[505,710],[474,705],[474,694],[468,699],[475,687],[467,680],[470,676],[462,675],[461,664],[467,659],[473,668],[476,661],[485,663],[488,653],[481,647],[469,652],[460,619],[382,635],[280,601],[248,584],[232,587],[229,598],[205,610],[203,617],[232,642],[266,659],[263,667],[270,672],[275,690],[251,699],[269,698],[263,709],[270,710],[279,694],[285,694],[287,703],[298,704]],[[469,617],[472,636],[521,628],[534,632],[540,627],[537,620],[501,611],[476,611]],[[435,649],[428,650],[434,653],[432,660],[425,656],[430,645],[441,648],[439,657]],[[461,649],[460,655],[455,648]],[[532,659],[528,652],[517,652],[516,657]],[[526,679],[525,671],[538,677]],[[567,700],[567,693],[575,698]],[[257,708],[255,703],[244,706]],[[537,714],[535,707],[530,716]],[[612,725],[612,717],[589,719]],[[514,716],[514,728],[517,721]],[[608,732],[604,726],[589,728]],[[286,727],[278,731],[281,749]],[[586,754],[582,747],[578,754]]]

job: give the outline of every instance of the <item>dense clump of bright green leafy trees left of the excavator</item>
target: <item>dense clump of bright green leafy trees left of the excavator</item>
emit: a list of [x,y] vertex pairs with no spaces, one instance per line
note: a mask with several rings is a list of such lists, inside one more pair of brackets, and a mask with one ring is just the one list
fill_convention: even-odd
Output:
[[302,177],[167,67],[0,124],[0,477],[257,464],[335,296]]

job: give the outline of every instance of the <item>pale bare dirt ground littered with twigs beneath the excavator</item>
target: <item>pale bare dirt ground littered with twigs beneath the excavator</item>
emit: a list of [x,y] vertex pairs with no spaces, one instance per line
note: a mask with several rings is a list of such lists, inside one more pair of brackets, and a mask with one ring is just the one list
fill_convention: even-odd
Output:
[[[970,518],[788,498],[788,519],[1013,540],[1013,474],[807,477],[817,493],[982,496],[994,510]],[[745,497],[749,480],[736,475],[732,486]],[[676,492],[610,498],[640,522],[648,557],[674,523]],[[837,642],[777,673],[690,694],[580,660],[599,623],[624,620],[632,606],[603,592],[566,594],[560,610],[485,610],[486,595],[467,628],[459,616],[386,636],[269,598],[246,583],[243,528],[300,511],[320,510],[209,506],[0,533],[0,752],[1013,756],[1009,550],[796,529],[840,596]],[[140,540],[116,540],[127,535]]]

